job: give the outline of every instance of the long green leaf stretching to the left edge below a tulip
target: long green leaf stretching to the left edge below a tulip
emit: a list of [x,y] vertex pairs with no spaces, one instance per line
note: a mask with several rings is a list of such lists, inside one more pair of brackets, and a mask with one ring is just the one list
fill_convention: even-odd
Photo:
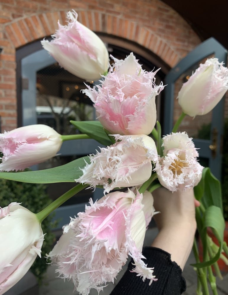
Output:
[[27,183],[75,182],[82,176],[81,169],[90,163],[89,157],[76,159],[58,167],[25,172],[0,172],[0,178]]

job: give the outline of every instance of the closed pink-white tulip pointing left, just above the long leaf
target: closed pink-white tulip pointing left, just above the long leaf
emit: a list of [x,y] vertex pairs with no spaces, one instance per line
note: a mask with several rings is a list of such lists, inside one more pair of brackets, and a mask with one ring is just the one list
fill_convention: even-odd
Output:
[[47,125],[37,124],[0,134],[0,171],[23,170],[44,162],[61,148],[61,135]]

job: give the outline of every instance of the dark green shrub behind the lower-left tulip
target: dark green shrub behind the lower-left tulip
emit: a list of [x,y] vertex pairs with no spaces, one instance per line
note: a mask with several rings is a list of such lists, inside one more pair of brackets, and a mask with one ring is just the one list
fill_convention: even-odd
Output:
[[[17,201],[22,203],[21,205],[31,212],[38,213],[51,203],[51,199],[46,194],[46,188],[43,184],[21,183],[0,179],[0,185],[0,207],[2,208],[8,206],[11,202]],[[51,232],[51,228],[54,227],[54,224],[51,222],[52,217],[53,215],[50,215],[42,222],[43,233],[46,233],[46,235],[41,258],[37,257],[31,267],[31,271],[37,277],[38,282],[41,282],[47,269],[48,265],[46,264],[45,255],[50,252],[55,239],[55,235]]]

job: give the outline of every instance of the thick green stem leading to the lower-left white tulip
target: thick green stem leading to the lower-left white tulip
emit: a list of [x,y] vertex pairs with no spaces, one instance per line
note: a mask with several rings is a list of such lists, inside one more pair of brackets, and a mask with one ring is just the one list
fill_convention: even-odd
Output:
[[82,189],[85,189],[89,185],[83,185],[82,183],[79,183],[78,185],[74,186],[72,189],[67,191],[65,194],[60,196],[58,199],[53,201],[51,204],[49,204],[46,208],[44,208],[42,211],[36,214],[38,220],[40,223],[48,217],[49,214],[51,214],[56,208],[58,208],[60,205],[62,205],[64,202],[66,202],[68,199],[70,199],[72,196],[77,194]]

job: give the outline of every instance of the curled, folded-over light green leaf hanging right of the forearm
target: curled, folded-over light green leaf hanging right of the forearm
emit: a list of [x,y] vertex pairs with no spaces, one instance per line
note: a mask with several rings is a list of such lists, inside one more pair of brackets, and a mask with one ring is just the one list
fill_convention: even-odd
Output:
[[207,245],[207,227],[211,227],[216,239],[219,242],[219,249],[215,256],[210,260],[203,261],[202,263],[192,264],[192,266],[196,268],[207,267],[214,264],[219,259],[223,247],[225,221],[221,209],[216,206],[208,207],[204,212],[202,221],[202,228],[198,228],[198,230],[203,244],[204,260],[207,253],[207,247],[209,246]]

